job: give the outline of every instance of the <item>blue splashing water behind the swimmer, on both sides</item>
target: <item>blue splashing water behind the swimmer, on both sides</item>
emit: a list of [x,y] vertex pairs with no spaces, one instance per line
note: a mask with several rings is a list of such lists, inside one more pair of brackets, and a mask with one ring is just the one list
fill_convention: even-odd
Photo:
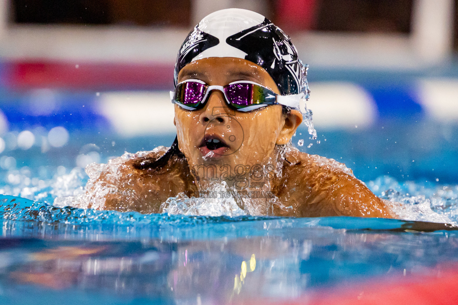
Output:
[[[122,138],[106,130],[100,134],[83,131],[70,132],[65,146],[45,152],[39,145],[5,150],[0,157],[0,179],[4,181],[0,193],[58,206],[75,205],[75,198],[84,193],[88,163],[107,162],[125,151],[169,146],[174,139],[174,134]],[[14,137],[13,133],[7,136],[10,134]],[[313,145],[298,146],[300,150],[346,164],[372,192],[393,202],[399,218],[458,224],[457,136],[455,125],[392,121],[358,131],[324,130],[318,133],[319,144],[308,139],[301,126],[293,143],[305,139]],[[184,213],[183,209],[174,211]]]

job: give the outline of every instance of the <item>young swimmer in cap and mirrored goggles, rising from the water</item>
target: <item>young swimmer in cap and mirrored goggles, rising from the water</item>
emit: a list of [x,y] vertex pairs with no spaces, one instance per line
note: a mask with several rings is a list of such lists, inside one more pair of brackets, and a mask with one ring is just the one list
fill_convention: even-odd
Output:
[[162,213],[171,197],[231,197],[249,214],[393,217],[343,164],[292,147],[309,93],[305,71],[290,38],[264,16],[206,16],[175,64],[174,143],[88,166],[84,207]]

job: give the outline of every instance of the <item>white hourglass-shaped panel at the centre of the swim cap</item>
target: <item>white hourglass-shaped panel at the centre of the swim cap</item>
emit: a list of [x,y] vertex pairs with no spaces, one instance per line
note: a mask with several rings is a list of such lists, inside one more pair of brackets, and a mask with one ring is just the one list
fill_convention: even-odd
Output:
[[226,43],[226,38],[238,32],[254,27],[264,21],[265,17],[254,11],[243,9],[225,9],[215,11],[204,17],[198,25],[206,32],[219,39],[219,43],[198,54],[192,61],[208,57],[236,57],[245,59],[247,55],[242,50]]

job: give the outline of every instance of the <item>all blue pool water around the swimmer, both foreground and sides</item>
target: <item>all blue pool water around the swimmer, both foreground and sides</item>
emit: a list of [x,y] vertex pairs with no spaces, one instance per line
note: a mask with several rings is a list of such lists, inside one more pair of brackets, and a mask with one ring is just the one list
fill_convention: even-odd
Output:
[[[174,134],[116,134],[91,108],[92,93],[65,94],[54,115],[31,114],[23,95],[8,94],[0,154],[3,304],[306,304],[322,289],[410,283],[456,270],[458,126],[425,118],[415,105],[398,105],[401,118],[380,111],[366,128],[317,128],[320,144],[304,127],[293,140],[305,139],[300,150],[344,162],[376,195],[402,203],[396,212],[407,220],[210,217],[53,206],[84,192],[88,162],[169,146]],[[40,139],[49,140],[56,126],[68,141],[46,146]],[[30,147],[17,146],[24,130],[34,136]]]

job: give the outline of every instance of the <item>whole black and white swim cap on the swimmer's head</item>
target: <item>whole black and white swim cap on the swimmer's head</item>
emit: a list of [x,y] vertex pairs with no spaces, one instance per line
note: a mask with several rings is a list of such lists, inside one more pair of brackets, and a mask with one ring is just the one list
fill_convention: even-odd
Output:
[[289,36],[261,14],[225,9],[203,18],[178,52],[175,85],[186,64],[208,57],[235,57],[258,64],[275,81],[280,94],[290,97],[289,107],[299,108],[299,99],[308,98],[307,66],[298,59]]

